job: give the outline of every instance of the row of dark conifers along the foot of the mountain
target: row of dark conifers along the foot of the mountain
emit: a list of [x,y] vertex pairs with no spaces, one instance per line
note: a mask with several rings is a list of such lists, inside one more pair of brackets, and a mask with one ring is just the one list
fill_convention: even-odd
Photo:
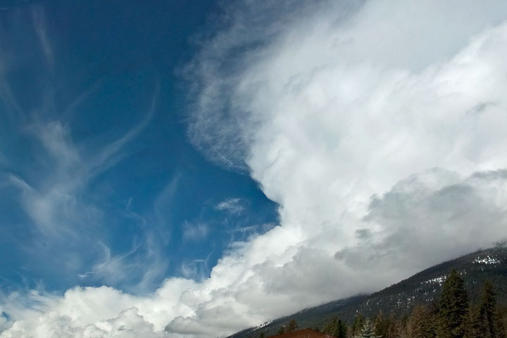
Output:
[[484,282],[480,303],[472,305],[456,270],[446,278],[439,299],[396,318],[358,314],[351,325],[334,316],[323,332],[337,338],[507,338],[507,308],[496,306],[494,287]]

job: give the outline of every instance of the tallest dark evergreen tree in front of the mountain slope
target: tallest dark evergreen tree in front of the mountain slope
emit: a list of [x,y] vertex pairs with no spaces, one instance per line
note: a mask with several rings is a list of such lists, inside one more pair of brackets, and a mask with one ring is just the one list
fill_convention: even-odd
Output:
[[465,282],[455,269],[444,282],[438,319],[439,338],[463,338],[467,334],[468,294]]

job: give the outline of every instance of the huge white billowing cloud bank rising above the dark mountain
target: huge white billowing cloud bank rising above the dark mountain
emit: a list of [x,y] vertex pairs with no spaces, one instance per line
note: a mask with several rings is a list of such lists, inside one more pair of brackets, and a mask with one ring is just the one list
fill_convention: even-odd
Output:
[[248,170],[280,224],[232,244],[201,282],[7,299],[0,337],[216,337],[506,237],[505,1],[245,1],[226,13],[189,67],[189,137]]

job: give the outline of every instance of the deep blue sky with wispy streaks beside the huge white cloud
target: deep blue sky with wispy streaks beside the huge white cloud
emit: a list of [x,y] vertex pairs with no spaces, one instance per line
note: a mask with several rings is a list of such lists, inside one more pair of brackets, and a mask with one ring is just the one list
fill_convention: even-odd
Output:
[[[0,11],[4,292],[200,280],[230,242],[276,220],[256,182],[206,161],[186,136],[178,74],[213,8],[11,1]],[[227,200],[241,210],[217,208]],[[107,258],[127,274],[94,273]]]

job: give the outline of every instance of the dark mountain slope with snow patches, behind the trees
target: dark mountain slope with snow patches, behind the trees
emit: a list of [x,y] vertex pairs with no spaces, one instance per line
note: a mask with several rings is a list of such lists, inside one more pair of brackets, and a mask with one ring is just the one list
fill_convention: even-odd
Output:
[[322,329],[332,315],[337,315],[349,324],[357,313],[362,313],[367,317],[373,317],[380,311],[386,314],[393,313],[399,317],[410,315],[415,306],[431,303],[437,299],[446,276],[453,268],[458,270],[465,280],[472,303],[478,302],[482,284],[485,280],[489,280],[494,285],[499,306],[507,306],[507,246],[501,245],[434,265],[379,292],[307,308],[260,327],[251,327],[237,332],[228,338],[249,336],[256,338],[261,332],[265,333],[265,337],[269,337],[277,334],[280,325],[293,318],[299,328]]

